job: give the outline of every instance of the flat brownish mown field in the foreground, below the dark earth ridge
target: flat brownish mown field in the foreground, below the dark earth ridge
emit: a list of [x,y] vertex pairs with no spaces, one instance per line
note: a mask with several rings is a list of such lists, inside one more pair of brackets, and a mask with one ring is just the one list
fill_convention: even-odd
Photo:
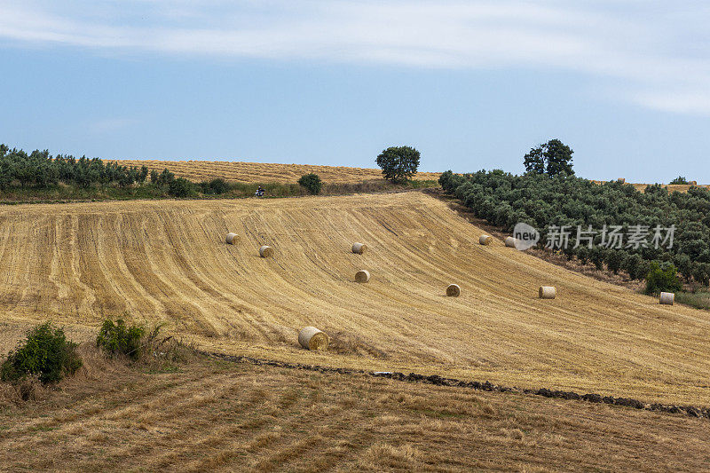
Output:
[[2,469],[698,471],[706,420],[194,359],[141,374],[83,348],[62,390],[0,410]]

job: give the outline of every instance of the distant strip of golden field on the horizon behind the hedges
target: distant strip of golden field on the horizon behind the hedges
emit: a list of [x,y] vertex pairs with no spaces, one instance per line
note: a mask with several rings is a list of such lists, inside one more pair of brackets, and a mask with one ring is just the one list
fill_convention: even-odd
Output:
[[[230,182],[295,183],[301,176],[314,172],[328,184],[353,184],[373,179],[383,180],[382,169],[348,168],[346,166],[317,166],[310,164],[275,164],[265,162],[230,161],[157,161],[106,160],[122,166],[146,166],[162,171],[168,169],[177,177],[203,181],[222,177]],[[437,180],[440,172],[417,172],[415,180]]]

